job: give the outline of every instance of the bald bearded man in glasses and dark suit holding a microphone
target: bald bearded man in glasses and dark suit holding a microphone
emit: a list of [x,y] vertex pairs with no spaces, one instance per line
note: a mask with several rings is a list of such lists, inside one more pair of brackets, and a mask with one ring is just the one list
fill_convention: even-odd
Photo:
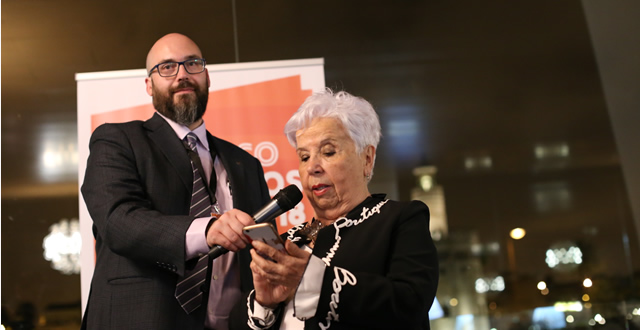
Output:
[[[232,306],[253,285],[242,228],[269,201],[263,169],[207,131],[209,73],[191,39],[160,38],[146,67],[157,112],[144,122],[104,124],[89,144],[82,196],[97,259],[83,328],[226,329]],[[187,135],[197,154],[183,143]],[[210,206],[194,214],[201,173]],[[179,301],[177,284],[214,245],[231,252],[203,258],[208,267],[193,286],[197,299]]]

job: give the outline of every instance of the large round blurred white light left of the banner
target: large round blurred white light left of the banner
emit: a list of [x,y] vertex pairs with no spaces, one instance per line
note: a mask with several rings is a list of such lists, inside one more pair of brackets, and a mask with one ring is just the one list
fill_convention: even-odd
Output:
[[80,274],[80,249],[82,239],[78,219],[62,219],[49,227],[49,234],[42,242],[44,259],[62,274]]

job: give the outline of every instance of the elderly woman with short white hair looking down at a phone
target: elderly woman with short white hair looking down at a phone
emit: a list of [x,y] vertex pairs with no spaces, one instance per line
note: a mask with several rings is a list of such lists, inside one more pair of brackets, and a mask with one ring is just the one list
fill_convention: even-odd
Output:
[[429,209],[369,193],[380,140],[371,104],[327,89],[285,134],[314,218],[283,235],[286,252],[252,243],[255,289],[232,327],[429,329],[438,284]]

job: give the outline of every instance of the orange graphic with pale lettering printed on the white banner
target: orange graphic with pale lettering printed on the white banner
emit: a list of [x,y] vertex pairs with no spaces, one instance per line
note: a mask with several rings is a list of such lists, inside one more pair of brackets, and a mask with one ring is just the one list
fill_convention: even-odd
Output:
[[[290,184],[302,188],[298,158],[283,129],[309,95],[311,90],[301,88],[300,76],[218,90],[209,93],[204,120],[213,135],[240,146],[261,161],[273,196]],[[145,104],[92,115],[91,131],[107,122],[147,120],[154,111],[151,104]],[[303,198],[277,219],[278,230],[283,233],[312,216],[311,205]]]

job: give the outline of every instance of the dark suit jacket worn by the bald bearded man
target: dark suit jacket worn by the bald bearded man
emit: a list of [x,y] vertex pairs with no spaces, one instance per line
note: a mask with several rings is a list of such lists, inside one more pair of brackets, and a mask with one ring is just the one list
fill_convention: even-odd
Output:
[[[269,201],[260,162],[207,137],[228,172],[233,207],[253,214]],[[154,114],[98,127],[89,147],[82,195],[93,219],[96,267],[83,327],[202,329],[206,305],[187,315],[174,297],[193,220],[193,174],[182,141]],[[248,249],[236,256],[244,292],[253,287]]]

